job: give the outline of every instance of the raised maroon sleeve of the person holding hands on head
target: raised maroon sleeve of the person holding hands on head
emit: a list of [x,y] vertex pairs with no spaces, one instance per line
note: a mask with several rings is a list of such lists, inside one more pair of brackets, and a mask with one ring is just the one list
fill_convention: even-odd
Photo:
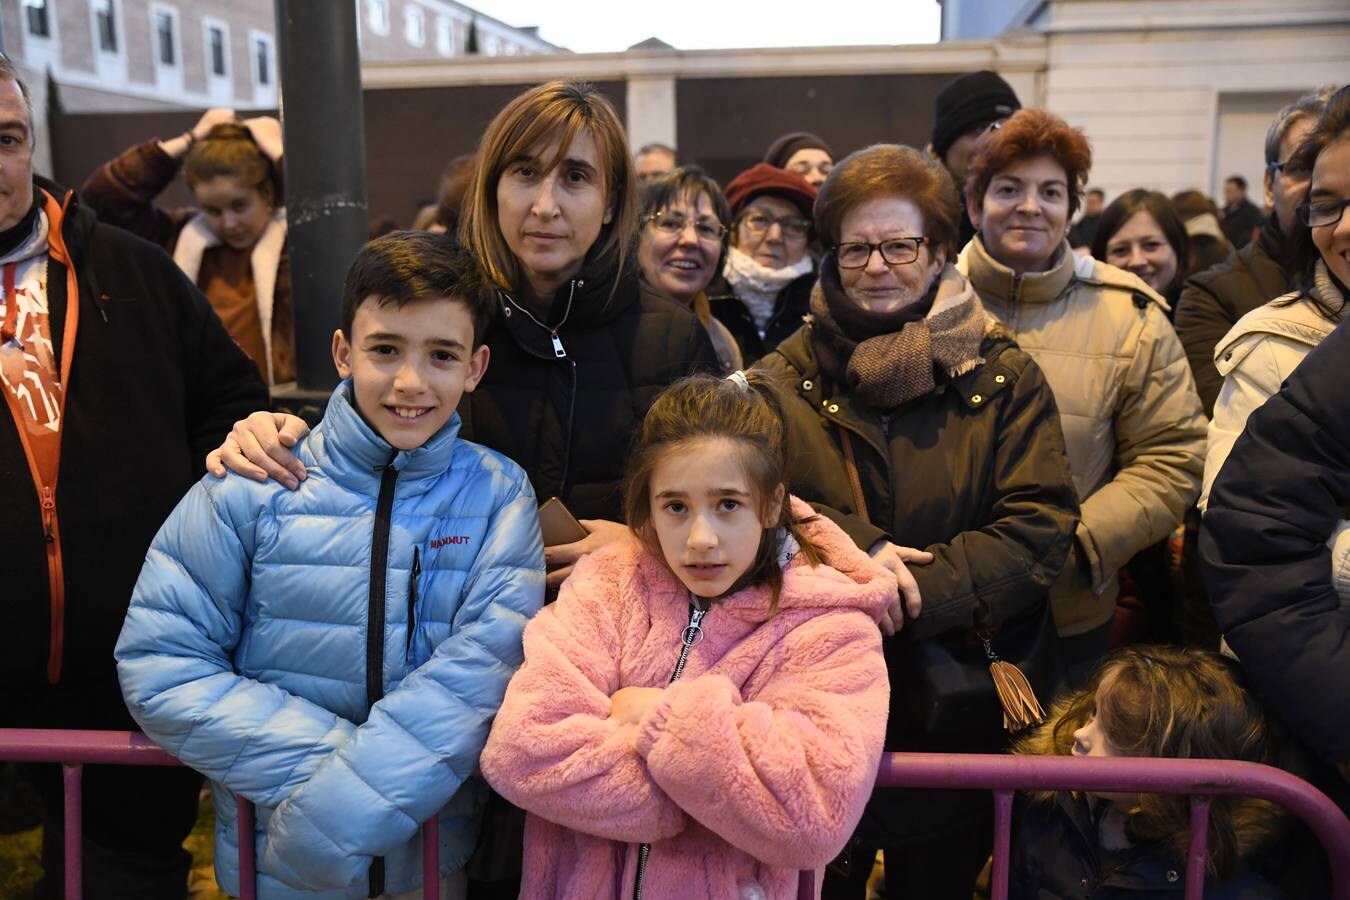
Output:
[[193,210],[159,209],[155,197],[173,182],[180,165],[159,148],[158,140],[147,140],[99,166],[80,189],[80,197],[100,221],[171,250]]

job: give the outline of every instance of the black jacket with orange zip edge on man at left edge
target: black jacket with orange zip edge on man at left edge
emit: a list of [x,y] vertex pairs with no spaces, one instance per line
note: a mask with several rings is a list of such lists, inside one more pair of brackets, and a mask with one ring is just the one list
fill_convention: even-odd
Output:
[[[151,538],[235,420],[266,409],[267,389],[163,250],[99,223],[74,192],[35,184],[69,197],[61,233],[80,287],[55,491],[65,575],[61,681],[105,681],[115,677],[112,648]],[[59,366],[70,298],[66,269],[55,260],[47,302]],[[47,680],[49,542],[19,432],[3,407],[0,509],[0,679],[23,690]]]

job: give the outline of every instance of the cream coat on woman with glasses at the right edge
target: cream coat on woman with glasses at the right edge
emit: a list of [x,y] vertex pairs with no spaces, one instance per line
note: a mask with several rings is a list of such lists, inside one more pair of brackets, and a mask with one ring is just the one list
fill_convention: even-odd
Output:
[[[1318,263],[1312,286],[1318,298],[1331,309],[1341,309],[1343,298],[1327,277],[1324,263]],[[1312,301],[1301,294],[1278,297],[1257,306],[1238,320],[1214,348],[1214,364],[1223,376],[1219,399],[1210,422],[1210,447],[1204,457],[1204,490],[1200,510],[1210,501],[1210,488],[1233,452],[1233,444],[1247,424],[1247,417],[1273,397],[1304,356],[1335,331],[1345,317],[1327,320]],[[1331,533],[1331,573],[1341,599],[1350,603],[1350,519],[1343,519]]]

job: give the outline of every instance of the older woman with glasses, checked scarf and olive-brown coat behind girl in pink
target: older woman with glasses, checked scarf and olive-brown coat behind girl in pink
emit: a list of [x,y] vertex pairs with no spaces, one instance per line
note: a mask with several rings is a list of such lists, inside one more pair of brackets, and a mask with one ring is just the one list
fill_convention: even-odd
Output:
[[[1038,645],[1026,675],[1045,699],[1056,680],[1046,598],[1077,499],[1044,375],[950,264],[960,215],[950,175],[910,147],[841,161],[815,202],[829,251],[811,318],[760,363],[783,389],[792,493],[896,575],[888,750],[1003,749],[992,683],[950,703],[927,663],[942,648]],[[975,792],[878,791],[824,896],[861,899],[884,849],[894,895],[968,900],[991,815]]]

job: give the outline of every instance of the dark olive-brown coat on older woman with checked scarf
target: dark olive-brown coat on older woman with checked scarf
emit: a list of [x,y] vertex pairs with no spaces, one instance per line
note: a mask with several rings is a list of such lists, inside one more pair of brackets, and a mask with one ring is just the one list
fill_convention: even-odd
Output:
[[[915,640],[1042,611],[1079,515],[1054,395],[999,329],[984,339],[981,366],[940,378],[932,394],[883,416],[822,378],[810,333],[807,324],[760,363],[783,387],[791,491],[864,549],[887,538],[936,557],[910,568],[923,611],[884,644],[892,673],[886,749],[1002,750],[996,719],[979,746],[909,733],[905,691],[894,681]],[[849,432],[871,521],[856,515],[838,429]],[[864,839],[894,846],[987,807],[988,796],[975,792],[879,791],[860,834],[884,833]]]

